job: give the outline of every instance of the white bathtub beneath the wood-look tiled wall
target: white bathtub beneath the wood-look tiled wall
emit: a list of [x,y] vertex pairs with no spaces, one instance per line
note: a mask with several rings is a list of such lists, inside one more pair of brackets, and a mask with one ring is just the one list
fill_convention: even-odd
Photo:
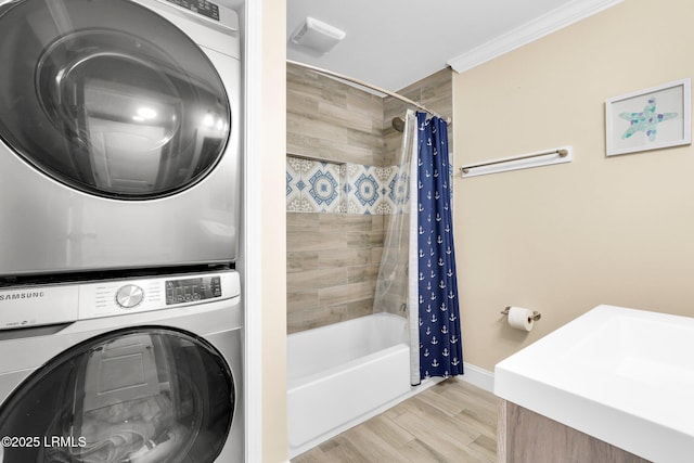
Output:
[[290,458],[440,381],[410,386],[407,343],[407,320],[391,313],[290,334]]

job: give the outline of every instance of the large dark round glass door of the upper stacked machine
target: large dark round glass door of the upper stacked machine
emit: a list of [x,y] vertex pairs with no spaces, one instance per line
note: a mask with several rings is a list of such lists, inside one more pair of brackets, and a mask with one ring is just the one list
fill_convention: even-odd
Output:
[[175,194],[221,157],[230,104],[183,31],[129,0],[0,7],[0,138],[44,175],[121,200]]

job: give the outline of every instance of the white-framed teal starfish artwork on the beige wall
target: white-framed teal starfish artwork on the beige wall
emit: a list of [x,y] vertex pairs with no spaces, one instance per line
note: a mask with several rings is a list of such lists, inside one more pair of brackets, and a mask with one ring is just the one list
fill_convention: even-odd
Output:
[[611,98],[607,156],[692,143],[691,79]]

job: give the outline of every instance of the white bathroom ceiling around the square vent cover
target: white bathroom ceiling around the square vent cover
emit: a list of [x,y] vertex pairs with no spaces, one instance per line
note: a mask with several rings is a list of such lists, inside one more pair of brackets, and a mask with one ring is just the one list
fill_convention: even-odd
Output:
[[[287,59],[397,91],[466,70],[621,0],[287,0]],[[346,33],[318,55],[290,38],[314,17]]]

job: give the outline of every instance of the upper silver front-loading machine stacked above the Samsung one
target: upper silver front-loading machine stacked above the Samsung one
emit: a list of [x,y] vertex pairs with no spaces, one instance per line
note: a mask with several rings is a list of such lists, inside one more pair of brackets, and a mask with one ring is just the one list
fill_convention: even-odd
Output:
[[0,0],[0,276],[235,260],[237,23],[206,0]]

